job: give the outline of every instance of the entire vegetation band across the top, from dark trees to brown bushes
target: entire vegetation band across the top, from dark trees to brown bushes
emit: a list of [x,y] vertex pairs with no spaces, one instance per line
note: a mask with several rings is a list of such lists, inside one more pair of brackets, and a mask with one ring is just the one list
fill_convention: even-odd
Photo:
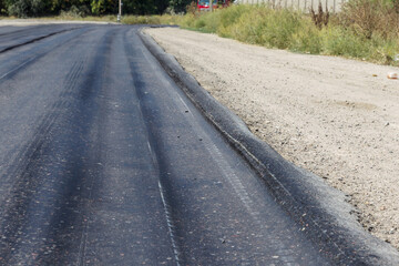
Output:
[[[122,23],[178,24],[266,48],[399,64],[399,0],[348,0],[337,14],[248,4],[198,12],[191,1],[124,0]],[[0,19],[115,22],[116,13],[114,0],[0,0]]]

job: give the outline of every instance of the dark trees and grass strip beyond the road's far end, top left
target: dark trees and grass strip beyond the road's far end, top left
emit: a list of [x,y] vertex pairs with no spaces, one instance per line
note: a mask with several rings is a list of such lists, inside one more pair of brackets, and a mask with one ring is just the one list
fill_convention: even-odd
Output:
[[[122,23],[177,24],[192,0],[123,0]],[[0,20],[116,22],[117,0],[0,0]]]

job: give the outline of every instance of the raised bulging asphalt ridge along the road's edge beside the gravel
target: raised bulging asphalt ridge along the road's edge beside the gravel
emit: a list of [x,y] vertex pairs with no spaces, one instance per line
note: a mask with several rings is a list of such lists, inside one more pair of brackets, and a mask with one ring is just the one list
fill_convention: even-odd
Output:
[[399,265],[399,253],[364,231],[344,193],[284,160],[252,134],[238,116],[217,102],[150,35],[141,31],[140,37],[191,101],[254,167],[280,206],[319,246],[320,253],[337,265]]

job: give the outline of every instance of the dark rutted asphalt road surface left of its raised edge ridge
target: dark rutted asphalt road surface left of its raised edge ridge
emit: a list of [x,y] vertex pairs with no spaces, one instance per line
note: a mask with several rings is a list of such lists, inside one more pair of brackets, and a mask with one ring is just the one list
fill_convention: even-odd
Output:
[[0,264],[329,265],[139,29],[0,28]]

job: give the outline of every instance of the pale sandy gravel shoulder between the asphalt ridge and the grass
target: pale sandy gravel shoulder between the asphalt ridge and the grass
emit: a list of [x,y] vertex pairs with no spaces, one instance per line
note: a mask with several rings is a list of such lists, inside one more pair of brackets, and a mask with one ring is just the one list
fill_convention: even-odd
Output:
[[[341,190],[399,248],[399,71],[180,29],[146,32],[288,161]],[[398,51],[399,52],[399,51]]]

